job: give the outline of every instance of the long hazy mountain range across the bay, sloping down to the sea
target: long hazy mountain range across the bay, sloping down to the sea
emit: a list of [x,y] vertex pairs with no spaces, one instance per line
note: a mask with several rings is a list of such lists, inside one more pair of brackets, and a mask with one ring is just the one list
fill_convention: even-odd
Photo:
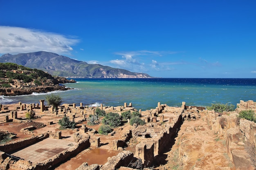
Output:
[[16,55],[4,54],[0,62],[16,63],[22,66],[47,71],[51,75],[61,77],[85,78],[150,78],[146,73],[134,73],[125,69],[112,68],[100,64],[88,64],[56,53],[39,51],[34,53],[20,53]]

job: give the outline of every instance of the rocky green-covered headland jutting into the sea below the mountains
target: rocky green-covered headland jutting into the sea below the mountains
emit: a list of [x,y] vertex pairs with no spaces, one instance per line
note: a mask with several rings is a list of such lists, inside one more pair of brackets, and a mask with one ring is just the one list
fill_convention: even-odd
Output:
[[66,91],[71,88],[67,88],[63,84],[76,82],[73,79],[53,77],[44,71],[13,63],[0,64],[0,95],[4,96]]

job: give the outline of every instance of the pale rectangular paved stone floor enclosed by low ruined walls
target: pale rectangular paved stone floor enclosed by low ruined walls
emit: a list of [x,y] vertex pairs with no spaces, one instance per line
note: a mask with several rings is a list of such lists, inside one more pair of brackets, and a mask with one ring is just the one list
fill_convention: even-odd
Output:
[[28,146],[27,148],[14,152],[11,155],[37,163],[42,162],[75,144],[75,142],[64,139],[47,138],[34,145]]

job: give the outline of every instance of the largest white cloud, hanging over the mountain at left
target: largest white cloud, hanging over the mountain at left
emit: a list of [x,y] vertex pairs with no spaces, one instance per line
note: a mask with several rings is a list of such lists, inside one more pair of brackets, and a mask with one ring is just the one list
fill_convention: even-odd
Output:
[[76,38],[65,35],[21,27],[0,26],[0,53],[29,53],[48,51],[58,54],[70,54]]

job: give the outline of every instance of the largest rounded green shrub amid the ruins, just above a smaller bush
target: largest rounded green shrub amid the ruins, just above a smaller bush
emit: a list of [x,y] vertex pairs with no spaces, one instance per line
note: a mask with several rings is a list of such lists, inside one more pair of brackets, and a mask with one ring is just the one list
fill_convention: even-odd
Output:
[[108,113],[102,120],[102,123],[109,125],[111,128],[115,128],[121,125],[121,116],[118,113]]

